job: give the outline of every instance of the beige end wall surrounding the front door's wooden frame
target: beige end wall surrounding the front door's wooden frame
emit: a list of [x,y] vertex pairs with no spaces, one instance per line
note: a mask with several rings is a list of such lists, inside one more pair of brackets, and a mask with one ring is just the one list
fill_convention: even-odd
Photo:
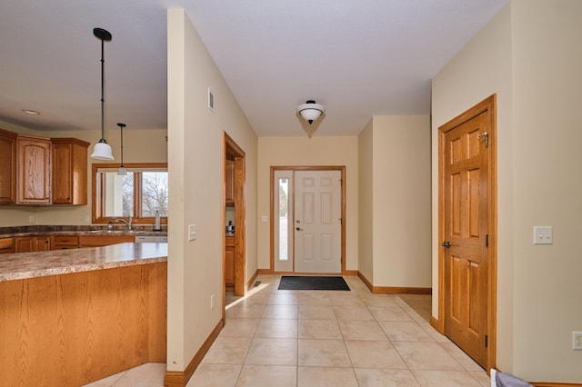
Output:
[[[297,125],[297,130],[301,127]],[[357,270],[357,137],[259,137],[258,213],[269,216],[271,166],[346,165],[346,269]],[[270,223],[257,227],[258,267],[270,267]]]

